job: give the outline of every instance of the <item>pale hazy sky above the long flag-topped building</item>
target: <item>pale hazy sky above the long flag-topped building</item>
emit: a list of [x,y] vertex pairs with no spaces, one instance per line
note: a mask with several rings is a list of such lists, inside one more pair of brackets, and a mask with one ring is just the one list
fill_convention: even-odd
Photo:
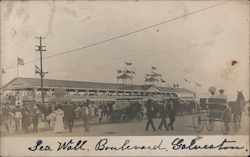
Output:
[[[223,1],[3,1],[1,66],[3,84],[17,76],[38,78],[39,44],[44,57],[107,40]],[[249,4],[226,1],[210,9],[96,46],[43,60],[45,78],[116,83],[117,70],[132,62],[134,84],[144,84],[154,66],[167,81],[196,91],[225,89],[249,95]],[[232,65],[232,61],[237,63]],[[183,80],[187,79],[191,83]],[[196,87],[195,82],[202,85]]]

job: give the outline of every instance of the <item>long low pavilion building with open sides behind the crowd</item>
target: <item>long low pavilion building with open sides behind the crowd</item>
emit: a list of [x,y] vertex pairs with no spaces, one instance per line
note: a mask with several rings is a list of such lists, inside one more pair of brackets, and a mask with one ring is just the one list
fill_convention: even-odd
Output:
[[[54,89],[66,90],[65,99],[71,101],[113,101],[117,98],[168,98],[176,97],[184,101],[193,101],[194,93],[184,88],[158,87],[156,85],[126,85],[100,82],[67,81],[44,79],[45,101],[55,99]],[[4,97],[16,96],[22,100],[33,99],[41,102],[40,79],[14,78],[3,86]]]

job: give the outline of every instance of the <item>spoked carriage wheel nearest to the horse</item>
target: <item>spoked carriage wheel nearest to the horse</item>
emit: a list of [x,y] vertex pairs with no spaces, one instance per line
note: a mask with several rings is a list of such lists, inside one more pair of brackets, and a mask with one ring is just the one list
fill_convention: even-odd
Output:
[[231,124],[231,111],[229,111],[228,109],[225,109],[222,113],[222,116],[221,116],[221,132],[224,134],[224,135],[227,135],[230,131],[230,124]]

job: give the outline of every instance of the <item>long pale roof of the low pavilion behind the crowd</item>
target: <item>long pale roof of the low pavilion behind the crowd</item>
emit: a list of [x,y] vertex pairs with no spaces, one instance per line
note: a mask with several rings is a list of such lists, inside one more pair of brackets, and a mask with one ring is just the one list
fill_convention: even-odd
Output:
[[[169,87],[157,87],[155,85],[125,85],[115,83],[101,83],[101,82],[85,82],[85,81],[69,81],[69,80],[55,80],[44,79],[44,88],[58,88],[65,89],[98,89],[98,90],[136,90],[147,91],[152,87],[158,91],[173,91],[173,92],[191,92],[184,88],[169,88]],[[16,77],[9,83],[3,86],[4,90],[16,90],[16,89],[32,89],[34,87],[40,87],[40,79],[37,78],[21,78]]]

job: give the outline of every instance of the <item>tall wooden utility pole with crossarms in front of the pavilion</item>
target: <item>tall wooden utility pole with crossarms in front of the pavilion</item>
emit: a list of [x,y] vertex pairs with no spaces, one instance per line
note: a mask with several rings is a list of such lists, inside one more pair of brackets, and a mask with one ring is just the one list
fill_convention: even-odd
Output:
[[45,37],[35,37],[36,39],[39,39],[39,45],[36,45],[38,49],[36,51],[40,52],[40,76],[41,76],[41,94],[42,94],[42,104],[44,105],[44,95],[43,95],[43,78],[47,72],[43,72],[43,51],[46,51],[43,49],[45,46],[42,45],[42,40],[45,39]]

